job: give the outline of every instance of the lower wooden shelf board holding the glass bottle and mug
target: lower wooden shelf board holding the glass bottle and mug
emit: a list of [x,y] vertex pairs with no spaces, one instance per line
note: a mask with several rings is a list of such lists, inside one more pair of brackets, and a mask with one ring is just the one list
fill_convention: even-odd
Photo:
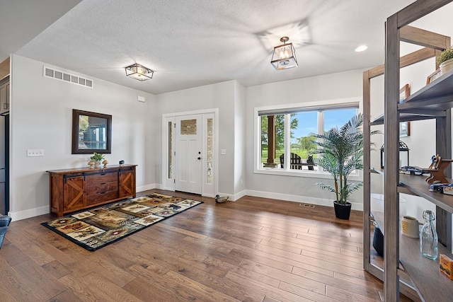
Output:
[[[453,296],[453,280],[439,271],[439,258],[430,260],[422,256],[419,240],[402,236],[400,232],[401,263],[425,301],[445,301],[446,297]],[[453,257],[441,244],[438,250],[439,255]]]

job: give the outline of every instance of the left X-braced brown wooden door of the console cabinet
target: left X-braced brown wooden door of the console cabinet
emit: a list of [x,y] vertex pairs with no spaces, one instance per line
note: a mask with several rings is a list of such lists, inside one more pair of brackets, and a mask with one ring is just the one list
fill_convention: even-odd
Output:
[[75,211],[84,207],[84,176],[69,177],[63,185],[64,211]]

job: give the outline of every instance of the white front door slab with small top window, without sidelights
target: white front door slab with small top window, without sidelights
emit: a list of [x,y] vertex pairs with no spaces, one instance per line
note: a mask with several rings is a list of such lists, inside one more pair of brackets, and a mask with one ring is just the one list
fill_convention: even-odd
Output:
[[175,189],[201,194],[202,115],[176,117]]

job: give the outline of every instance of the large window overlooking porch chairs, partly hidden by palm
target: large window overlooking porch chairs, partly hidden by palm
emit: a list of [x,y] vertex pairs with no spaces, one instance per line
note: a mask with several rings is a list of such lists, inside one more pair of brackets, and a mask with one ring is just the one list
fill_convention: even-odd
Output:
[[322,173],[313,159],[315,133],[341,127],[357,114],[358,100],[294,108],[256,108],[256,170],[270,173]]

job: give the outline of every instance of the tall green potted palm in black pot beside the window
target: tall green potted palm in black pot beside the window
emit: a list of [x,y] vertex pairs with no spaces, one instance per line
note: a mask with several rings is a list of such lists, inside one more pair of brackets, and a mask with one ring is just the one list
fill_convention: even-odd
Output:
[[[363,182],[348,181],[352,171],[363,168],[363,134],[360,128],[362,124],[363,115],[358,114],[340,129],[334,127],[323,134],[314,134],[316,138],[314,144],[319,147],[314,153],[321,155],[314,158],[314,161],[333,177],[333,185],[323,182],[316,182],[316,185],[335,193],[333,207],[339,219],[349,219],[351,210],[349,196],[363,185]],[[379,132],[371,132],[376,133]]]

